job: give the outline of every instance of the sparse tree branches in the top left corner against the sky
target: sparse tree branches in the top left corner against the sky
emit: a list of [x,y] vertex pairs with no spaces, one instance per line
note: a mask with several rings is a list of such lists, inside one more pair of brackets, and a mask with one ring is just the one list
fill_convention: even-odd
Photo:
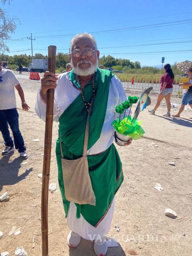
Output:
[[[7,0],[1,0],[1,2],[5,4]],[[8,0],[8,3],[10,3],[10,0]],[[19,19],[17,17],[10,18],[6,11],[0,8],[0,53],[9,51],[9,47],[5,42],[10,40],[10,34],[15,31],[18,22]]]

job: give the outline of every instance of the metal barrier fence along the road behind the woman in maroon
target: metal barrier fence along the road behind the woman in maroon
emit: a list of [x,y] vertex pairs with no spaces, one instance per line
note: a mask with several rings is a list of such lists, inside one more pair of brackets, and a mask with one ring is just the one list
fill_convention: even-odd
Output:
[[[145,88],[153,87],[152,92],[158,92],[160,90],[161,76],[160,75],[117,75],[122,82],[124,90],[130,92],[134,90],[144,90]],[[173,83],[173,92],[182,93],[182,87],[179,87],[180,77],[175,77]]]

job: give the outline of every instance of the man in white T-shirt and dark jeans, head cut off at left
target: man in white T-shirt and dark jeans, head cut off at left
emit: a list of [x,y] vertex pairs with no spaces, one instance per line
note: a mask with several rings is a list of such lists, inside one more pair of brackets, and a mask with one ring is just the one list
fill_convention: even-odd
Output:
[[[11,151],[18,149],[20,157],[26,159],[28,158],[26,146],[19,130],[19,114],[17,112],[15,88],[21,98],[23,110],[28,111],[30,107],[24,100],[24,92],[19,80],[11,70],[2,69],[2,61],[0,60],[0,131],[6,145],[2,155],[9,154]],[[13,133],[14,143],[10,137],[8,124]]]

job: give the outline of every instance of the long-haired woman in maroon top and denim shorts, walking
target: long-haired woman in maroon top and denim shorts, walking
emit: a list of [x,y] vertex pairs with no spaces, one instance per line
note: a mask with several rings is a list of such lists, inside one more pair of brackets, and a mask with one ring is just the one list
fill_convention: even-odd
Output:
[[152,110],[149,110],[149,113],[151,113],[152,115],[155,114],[156,109],[158,109],[158,107],[160,106],[161,101],[163,100],[163,98],[165,98],[168,111],[164,115],[164,117],[171,117],[171,114],[170,114],[170,111],[171,111],[170,98],[171,98],[171,94],[173,92],[173,80],[174,80],[174,74],[173,74],[173,71],[171,69],[171,65],[170,64],[165,64],[164,65],[164,75],[162,75],[162,77],[161,77],[161,87],[160,87],[160,91],[159,91],[159,95],[158,95],[158,98],[157,98],[156,105],[154,106],[154,108]]

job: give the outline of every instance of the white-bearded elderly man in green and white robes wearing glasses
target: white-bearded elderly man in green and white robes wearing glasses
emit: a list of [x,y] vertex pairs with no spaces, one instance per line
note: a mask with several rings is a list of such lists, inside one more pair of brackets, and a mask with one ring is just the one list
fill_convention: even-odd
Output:
[[[49,88],[55,88],[54,120],[59,122],[58,182],[71,230],[67,242],[70,247],[77,247],[81,237],[95,240],[94,251],[101,256],[107,253],[105,235],[113,218],[115,194],[123,181],[111,123],[117,118],[115,107],[127,98],[119,79],[110,71],[98,68],[99,51],[92,35],[77,34],[71,41],[70,51],[73,70],[58,78],[51,72],[45,73],[36,112],[45,120],[46,93]],[[86,164],[82,169],[81,163],[70,169],[70,165],[84,158],[88,160],[88,169]],[[68,175],[72,175],[71,179]],[[70,200],[75,193],[77,200]],[[87,198],[78,203],[85,194]]]

